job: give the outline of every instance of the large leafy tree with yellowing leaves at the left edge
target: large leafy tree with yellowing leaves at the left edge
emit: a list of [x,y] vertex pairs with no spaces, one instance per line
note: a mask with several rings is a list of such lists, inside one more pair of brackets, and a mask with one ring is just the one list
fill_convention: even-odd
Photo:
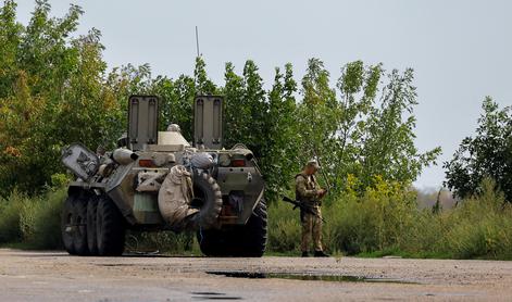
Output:
[[111,141],[118,103],[103,85],[100,33],[72,38],[83,11],[71,5],[50,17],[37,1],[27,26],[15,22],[15,3],[0,9],[0,194],[16,186],[35,192],[62,172],[63,146],[79,138],[96,148]]

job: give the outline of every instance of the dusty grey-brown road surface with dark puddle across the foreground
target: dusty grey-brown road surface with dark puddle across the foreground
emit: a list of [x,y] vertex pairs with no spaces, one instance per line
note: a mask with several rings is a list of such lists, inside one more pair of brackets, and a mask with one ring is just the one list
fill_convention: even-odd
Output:
[[0,301],[512,300],[512,262],[80,257],[0,249]]

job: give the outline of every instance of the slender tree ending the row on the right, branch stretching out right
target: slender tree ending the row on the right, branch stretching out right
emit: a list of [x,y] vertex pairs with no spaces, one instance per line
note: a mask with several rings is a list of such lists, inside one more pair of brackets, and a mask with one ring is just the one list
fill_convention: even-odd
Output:
[[374,184],[380,176],[410,186],[423,167],[435,163],[440,148],[420,153],[414,144],[416,118],[413,114],[416,88],[413,71],[403,74],[394,70],[383,89],[380,103],[371,109],[367,134],[362,150],[362,187]]

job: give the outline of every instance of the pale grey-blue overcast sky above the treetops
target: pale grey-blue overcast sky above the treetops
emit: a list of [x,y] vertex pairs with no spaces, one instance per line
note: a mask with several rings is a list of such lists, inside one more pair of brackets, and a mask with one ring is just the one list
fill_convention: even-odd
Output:
[[[34,1],[17,2],[26,24]],[[512,1],[53,0],[52,15],[64,15],[70,2],[85,10],[79,34],[102,32],[109,67],[149,63],[154,75],[191,74],[196,25],[209,75],[221,85],[225,62],[240,71],[247,59],[266,84],[287,62],[300,79],[312,56],[334,78],[354,60],[413,67],[416,146],[440,146],[440,163],[474,133],[485,96],[512,104]],[[438,165],[416,186],[438,188],[444,178]]]

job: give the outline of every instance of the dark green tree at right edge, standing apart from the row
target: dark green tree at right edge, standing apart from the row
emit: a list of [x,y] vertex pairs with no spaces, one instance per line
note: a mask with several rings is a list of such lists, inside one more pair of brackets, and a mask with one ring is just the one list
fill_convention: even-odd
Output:
[[512,202],[512,111],[499,109],[487,97],[482,104],[475,137],[462,140],[453,159],[445,163],[446,185],[460,198],[478,193],[485,177],[491,177]]

